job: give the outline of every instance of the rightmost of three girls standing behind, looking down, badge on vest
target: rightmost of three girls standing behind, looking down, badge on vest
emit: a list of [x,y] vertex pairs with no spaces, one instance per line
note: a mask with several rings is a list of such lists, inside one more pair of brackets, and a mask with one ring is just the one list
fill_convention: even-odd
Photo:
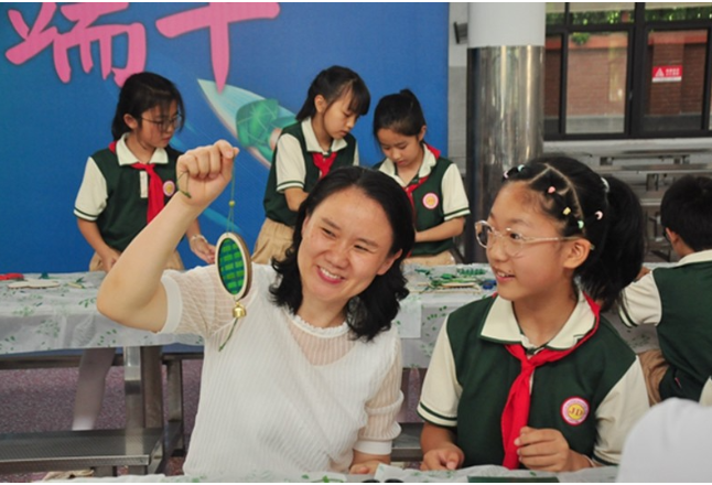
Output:
[[374,137],[386,159],[375,168],[408,194],[416,214],[416,247],[406,262],[452,265],[453,238],[470,214],[457,165],[425,143],[428,126],[414,94],[385,96],[374,114]]

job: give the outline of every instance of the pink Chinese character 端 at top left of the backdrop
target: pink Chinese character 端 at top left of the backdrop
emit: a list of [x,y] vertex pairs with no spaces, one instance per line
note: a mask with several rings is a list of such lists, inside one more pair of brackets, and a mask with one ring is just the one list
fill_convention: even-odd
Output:
[[[37,19],[30,29],[17,10],[10,10],[8,17],[22,42],[6,52],[8,60],[17,65],[23,64],[52,45],[54,67],[64,83],[72,78],[68,51],[79,47],[82,67],[88,73],[94,67],[91,60],[91,43],[99,43],[101,61],[101,77],[106,79],[114,73],[114,79],[119,86],[128,76],[143,71],[145,67],[145,29],[141,23],[130,25],[96,25],[91,24],[101,15],[126,10],[129,2],[77,2],[61,7],[62,14],[73,22],[74,28],[66,33],[60,33],[55,26],[48,28],[57,10],[55,2],[43,2]],[[114,37],[128,36],[126,67],[112,67],[111,42]]]

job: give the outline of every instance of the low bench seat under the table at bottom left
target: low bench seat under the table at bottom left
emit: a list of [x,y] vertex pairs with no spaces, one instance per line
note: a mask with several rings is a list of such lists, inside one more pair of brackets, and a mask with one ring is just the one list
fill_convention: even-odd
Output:
[[151,474],[162,462],[160,428],[0,434],[2,474],[95,468],[100,476],[118,466]]

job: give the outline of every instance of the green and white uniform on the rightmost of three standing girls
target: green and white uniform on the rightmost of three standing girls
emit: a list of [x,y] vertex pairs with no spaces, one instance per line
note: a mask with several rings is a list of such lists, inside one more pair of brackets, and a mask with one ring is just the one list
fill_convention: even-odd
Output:
[[[465,217],[470,214],[470,203],[462,176],[450,160],[433,153],[423,143],[423,162],[418,175],[411,181],[403,181],[398,175],[398,166],[385,159],[375,169],[391,176],[403,190],[411,190],[411,200],[416,211],[416,229],[423,231],[440,226],[446,220]],[[452,238],[417,242],[410,256],[433,256],[454,247]]]

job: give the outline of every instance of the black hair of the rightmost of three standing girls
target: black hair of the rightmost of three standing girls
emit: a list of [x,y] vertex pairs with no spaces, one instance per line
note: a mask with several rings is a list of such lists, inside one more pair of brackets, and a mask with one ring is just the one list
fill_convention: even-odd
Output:
[[374,138],[378,141],[378,131],[392,130],[404,137],[420,134],[425,126],[425,116],[420,101],[410,89],[384,96],[374,111]]

